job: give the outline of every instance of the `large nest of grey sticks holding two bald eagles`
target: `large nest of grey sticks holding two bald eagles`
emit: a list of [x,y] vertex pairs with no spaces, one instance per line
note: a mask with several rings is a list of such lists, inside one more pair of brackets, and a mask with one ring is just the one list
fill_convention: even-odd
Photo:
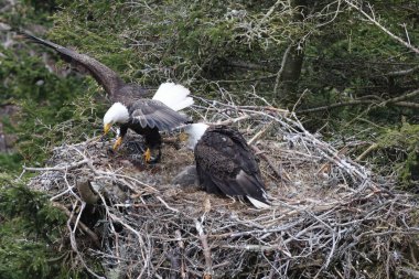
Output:
[[[175,142],[164,144],[161,163],[146,168],[136,135],[117,153],[109,152],[112,141],[98,138],[56,147],[49,167],[26,168],[41,172],[30,185],[67,213],[72,250],[93,276],[388,278],[415,272],[408,266],[415,255],[405,251],[418,232],[410,219],[416,207],[407,194],[394,191],[390,178],[375,175],[310,133],[293,114],[201,104],[194,109],[202,119],[236,126],[249,140],[271,208],[256,210],[187,183],[193,179],[178,174],[193,164],[193,153]],[[79,191],[86,183],[96,191],[87,205]],[[103,270],[89,266],[92,258]]]

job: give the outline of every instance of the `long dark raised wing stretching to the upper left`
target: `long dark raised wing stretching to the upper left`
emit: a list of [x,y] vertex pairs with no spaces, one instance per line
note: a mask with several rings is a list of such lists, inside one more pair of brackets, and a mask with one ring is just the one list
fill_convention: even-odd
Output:
[[29,33],[22,33],[25,37],[32,40],[35,43],[49,46],[60,53],[61,57],[71,63],[73,66],[78,68],[82,72],[88,72],[101,86],[105,90],[115,96],[118,93],[118,89],[125,85],[123,81],[109,67],[105,66],[100,62],[87,56],[86,54],[80,54],[53,42],[36,37]]

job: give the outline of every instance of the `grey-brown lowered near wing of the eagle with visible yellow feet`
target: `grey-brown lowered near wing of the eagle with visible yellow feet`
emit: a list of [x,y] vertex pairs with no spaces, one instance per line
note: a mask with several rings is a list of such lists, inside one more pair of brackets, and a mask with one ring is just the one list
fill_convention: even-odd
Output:
[[157,127],[159,130],[172,130],[187,121],[190,118],[180,114],[160,100],[139,99],[130,105],[129,114],[132,122],[141,127]]

